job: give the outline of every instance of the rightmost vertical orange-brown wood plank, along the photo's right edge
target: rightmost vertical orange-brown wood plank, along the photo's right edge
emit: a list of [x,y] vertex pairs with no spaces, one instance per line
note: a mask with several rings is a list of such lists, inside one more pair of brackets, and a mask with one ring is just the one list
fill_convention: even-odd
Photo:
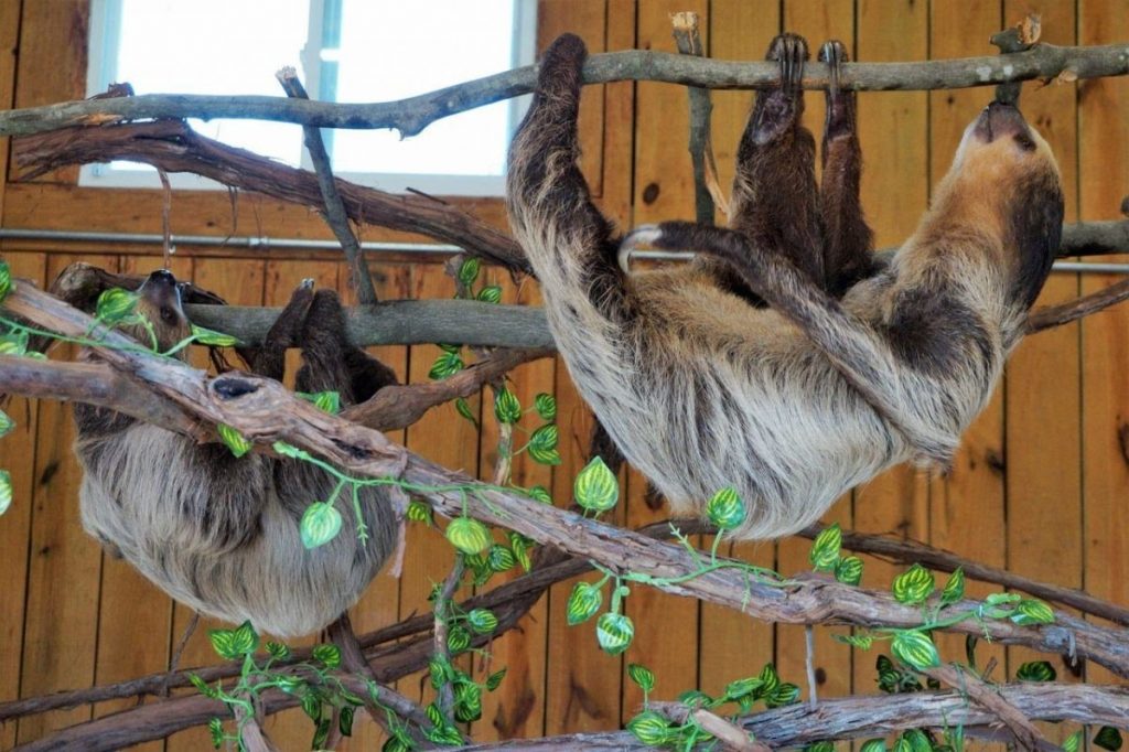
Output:
[[[1129,40],[1129,12],[1118,0],[1080,0],[1078,44]],[[1129,194],[1129,79],[1079,85],[1078,213],[1115,219]],[[1114,256],[1129,263],[1129,254]],[[1124,277],[1084,274],[1082,292]],[[1129,305],[1082,323],[1082,469],[1084,490],[1083,580],[1086,592],[1129,603]],[[1104,668],[1086,666],[1086,679],[1113,682]]]

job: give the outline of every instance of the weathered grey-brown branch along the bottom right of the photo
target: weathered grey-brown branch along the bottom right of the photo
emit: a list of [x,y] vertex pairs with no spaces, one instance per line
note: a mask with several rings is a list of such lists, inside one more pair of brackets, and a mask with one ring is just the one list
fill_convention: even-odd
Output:
[[[1034,720],[1129,726],[1129,690],[1122,687],[1088,684],[1004,684],[1000,696]],[[912,692],[821,700],[812,710],[806,703],[765,710],[738,720],[758,742],[773,749],[803,746],[826,740],[887,736],[909,728],[954,728],[964,726],[966,735],[998,723],[988,710],[969,705],[960,692]],[[463,747],[466,752],[548,752],[584,749],[653,750],[627,732],[572,734],[545,738],[514,740]]]

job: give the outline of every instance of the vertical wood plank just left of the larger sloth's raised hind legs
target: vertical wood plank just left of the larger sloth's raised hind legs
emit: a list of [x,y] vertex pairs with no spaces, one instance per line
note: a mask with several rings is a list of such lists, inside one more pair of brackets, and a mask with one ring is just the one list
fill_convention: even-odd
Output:
[[[724,60],[761,60],[769,41],[780,30],[778,7],[743,0],[712,0],[709,17],[709,54]],[[719,182],[729,194],[737,142],[752,107],[750,91],[715,91],[711,100],[714,154]],[[718,212],[718,221],[725,217]],[[704,539],[712,545],[712,537]],[[776,567],[776,545],[771,542],[723,544],[726,556],[759,567]],[[701,604],[701,633],[698,638],[698,680],[700,689],[719,694],[729,682],[755,675],[773,659],[774,628],[750,619],[733,609]],[[668,687],[676,692],[677,688]],[[665,696],[664,696],[665,697]]]

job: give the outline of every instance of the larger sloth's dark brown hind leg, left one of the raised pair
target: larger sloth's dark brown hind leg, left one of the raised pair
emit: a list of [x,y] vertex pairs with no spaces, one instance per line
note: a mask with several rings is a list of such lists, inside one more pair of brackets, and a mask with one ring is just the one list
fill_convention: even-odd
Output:
[[756,94],[741,137],[729,227],[754,245],[784,253],[822,287],[815,139],[800,124],[807,43],[795,34],[781,34],[765,58],[780,65],[780,86]]

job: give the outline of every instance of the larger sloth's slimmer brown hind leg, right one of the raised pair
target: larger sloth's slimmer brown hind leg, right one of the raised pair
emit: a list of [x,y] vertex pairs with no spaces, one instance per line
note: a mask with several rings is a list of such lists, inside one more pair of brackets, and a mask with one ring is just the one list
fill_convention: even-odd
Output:
[[875,264],[870,254],[873,234],[863,217],[858,194],[863,150],[856,126],[856,95],[839,86],[839,67],[847,60],[847,49],[838,40],[825,42],[820,49],[820,61],[831,68],[823,129],[820,211],[823,217],[823,263],[828,289],[835,297],[869,277]]

